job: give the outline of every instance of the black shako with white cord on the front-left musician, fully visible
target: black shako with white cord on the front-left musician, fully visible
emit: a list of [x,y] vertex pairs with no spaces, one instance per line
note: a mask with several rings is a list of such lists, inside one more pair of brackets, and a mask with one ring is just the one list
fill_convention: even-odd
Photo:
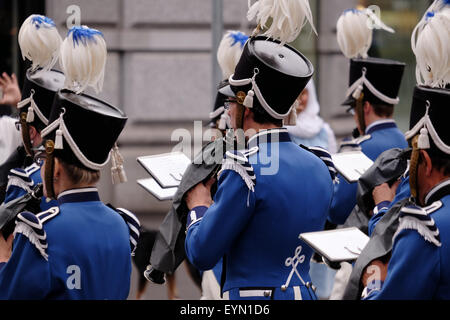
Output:
[[127,116],[116,107],[86,94],[59,91],[44,140],[55,143],[54,155],[69,164],[100,170],[110,158]]

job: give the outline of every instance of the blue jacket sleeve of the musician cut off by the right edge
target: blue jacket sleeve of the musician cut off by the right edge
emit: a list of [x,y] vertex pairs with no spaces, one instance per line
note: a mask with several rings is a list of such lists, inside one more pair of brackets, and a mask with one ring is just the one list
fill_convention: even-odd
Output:
[[369,300],[429,300],[440,277],[439,247],[416,230],[404,229],[396,237],[387,277]]

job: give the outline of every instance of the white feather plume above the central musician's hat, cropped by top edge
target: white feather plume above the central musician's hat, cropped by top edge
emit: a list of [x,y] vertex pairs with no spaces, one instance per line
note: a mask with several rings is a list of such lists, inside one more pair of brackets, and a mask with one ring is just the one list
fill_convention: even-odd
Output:
[[263,35],[281,43],[297,39],[307,22],[317,34],[308,0],[259,0],[253,5],[249,0],[247,18],[249,21],[256,18],[256,23],[263,29],[272,18],[272,24]]

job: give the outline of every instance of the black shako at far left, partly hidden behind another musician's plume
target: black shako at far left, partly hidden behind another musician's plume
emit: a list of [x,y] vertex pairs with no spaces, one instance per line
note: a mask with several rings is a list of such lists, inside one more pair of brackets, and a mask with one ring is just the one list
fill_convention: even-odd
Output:
[[56,92],[64,85],[64,74],[57,70],[38,73],[27,70],[23,88],[22,101],[17,108],[27,114],[27,122],[41,131],[49,124],[50,112]]

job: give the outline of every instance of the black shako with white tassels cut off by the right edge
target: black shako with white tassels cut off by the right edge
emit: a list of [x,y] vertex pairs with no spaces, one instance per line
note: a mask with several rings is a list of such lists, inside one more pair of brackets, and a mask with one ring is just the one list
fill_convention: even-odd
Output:
[[418,148],[450,155],[450,90],[416,86],[407,140],[419,135]]

